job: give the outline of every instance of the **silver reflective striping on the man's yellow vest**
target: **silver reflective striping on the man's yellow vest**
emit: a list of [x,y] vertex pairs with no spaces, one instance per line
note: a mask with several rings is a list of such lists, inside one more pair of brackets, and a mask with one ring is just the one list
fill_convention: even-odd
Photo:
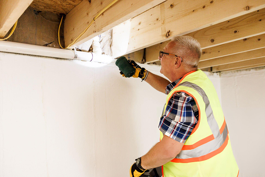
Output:
[[178,159],[188,159],[188,158],[196,158],[201,157],[203,155],[207,155],[208,153],[213,152],[214,150],[217,150],[221,147],[221,145],[225,142],[226,137],[228,135],[227,126],[225,126],[222,134],[220,134],[220,130],[218,127],[218,124],[216,122],[216,119],[213,115],[213,110],[210,105],[210,101],[206,95],[206,93],[203,91],[201,87],[198,85],[191,83],[191,82],[183,82],[180,83],[178,86],[186,86],[190,87],[198,92],[198,94],[201,95],[203,98],[203,101],[205,103],[205,112],[207,117],[207,122],[209,124],[209,127],[213,133],[214,140],[211,140],[203,145],[198,146],[197,148],[191,149],[191,150],[181,150],[180,153],[176,156]]

